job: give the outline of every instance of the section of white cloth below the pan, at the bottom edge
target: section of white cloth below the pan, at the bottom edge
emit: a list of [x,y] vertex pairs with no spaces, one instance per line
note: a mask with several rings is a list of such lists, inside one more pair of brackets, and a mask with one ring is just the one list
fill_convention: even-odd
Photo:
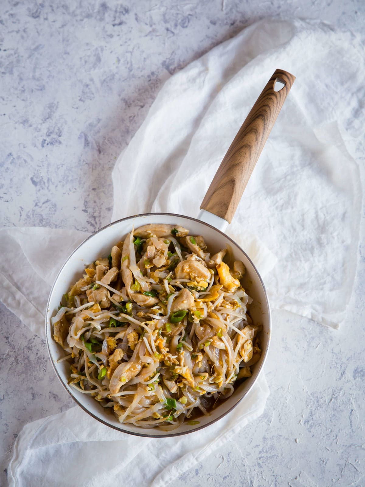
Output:
[[[140,438],[111,430],[79,407],[37,419],[23,427],[15,442],[8,468],[9,486],[100,487],[111,485],[123,474],[130,485],[165,487],[258,418],[268,396],[266,379],[260,375],[233,411],[195,433],[194,445],[189,434]],[[97,470],[92,468],[96,457],[100,466]],[[35,462],[37,468],[30,468]],[[86,478],[88,470],[92,474]]]

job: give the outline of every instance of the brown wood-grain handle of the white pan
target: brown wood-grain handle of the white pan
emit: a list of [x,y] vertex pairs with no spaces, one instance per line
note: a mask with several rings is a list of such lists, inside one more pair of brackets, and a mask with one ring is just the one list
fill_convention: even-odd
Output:
[[[295,76],[281,69],[272,75],[220,163],[201,203],[201,209],[231,223],[294,80]],[[284,84],[279,91],[274,90],[276,81]]]

